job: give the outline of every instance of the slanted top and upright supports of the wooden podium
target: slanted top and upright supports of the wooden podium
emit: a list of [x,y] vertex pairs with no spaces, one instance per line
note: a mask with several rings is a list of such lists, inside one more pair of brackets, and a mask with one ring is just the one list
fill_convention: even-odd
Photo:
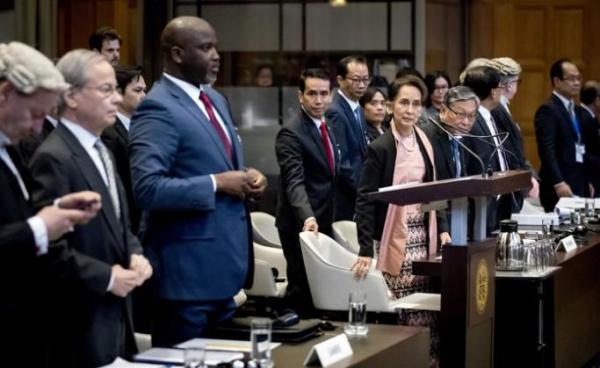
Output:
[[[452,244],[466,245],[468,233],[468,197],[475,200],[475,226],[473,240],[482,241],[487,237],[487,201],[488,197],[514,192],[531,185],[531,172],[509,170],[495,172],[489,178],[481,175],[466,176],[458,179],[438,180],[428,183],[408,183],[380,188],[370,193],[372,199],[398,205],[430,203],[451,200]],[[440,206],[436,206],[439,208]]]

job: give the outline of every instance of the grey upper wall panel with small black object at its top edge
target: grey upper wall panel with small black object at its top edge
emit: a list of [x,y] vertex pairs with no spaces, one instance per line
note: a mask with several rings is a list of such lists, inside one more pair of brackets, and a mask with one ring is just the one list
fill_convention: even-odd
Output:
[[[306,5],[306,49],[309,51],[387,50],[387,4],[328,3]],[[410,50],[410,48],[408,48]]]

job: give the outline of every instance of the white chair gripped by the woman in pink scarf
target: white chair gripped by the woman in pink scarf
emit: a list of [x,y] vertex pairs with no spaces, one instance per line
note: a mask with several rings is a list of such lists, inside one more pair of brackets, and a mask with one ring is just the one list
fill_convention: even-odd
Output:
[[[395,312],[399,308],[420,308],[419,300],[439,310],[439,294],[417,293],[410,298],[394,299],[388,291],[381,272],[371,269],[366,278],[354,279],[350,267],[356,255],[344,249],[325,234],[300,233],[300,247],[308,276],[313,304],[322,310],[347,310],[348,295],[353,290],[367,294],[367,310]],[[416,296],[415,296],[416,295]],[[431,309],[429,309],[431,310]]]

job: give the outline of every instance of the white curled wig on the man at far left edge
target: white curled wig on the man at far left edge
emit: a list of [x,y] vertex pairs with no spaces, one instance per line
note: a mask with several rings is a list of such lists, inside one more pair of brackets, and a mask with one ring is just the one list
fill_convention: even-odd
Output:
[[2,79],[8,80],[24,94],[32,94],[40,88],[57,92],[69,88],[50,59],[21,42],[0,43]]

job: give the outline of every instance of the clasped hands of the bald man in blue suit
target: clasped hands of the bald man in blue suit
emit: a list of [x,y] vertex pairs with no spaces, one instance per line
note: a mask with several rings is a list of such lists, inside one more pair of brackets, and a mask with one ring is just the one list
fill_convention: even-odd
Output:
[[215,174],[217,191],[244,199],[259,198],[267,187],[267,178],[258,170],[226,171]]

